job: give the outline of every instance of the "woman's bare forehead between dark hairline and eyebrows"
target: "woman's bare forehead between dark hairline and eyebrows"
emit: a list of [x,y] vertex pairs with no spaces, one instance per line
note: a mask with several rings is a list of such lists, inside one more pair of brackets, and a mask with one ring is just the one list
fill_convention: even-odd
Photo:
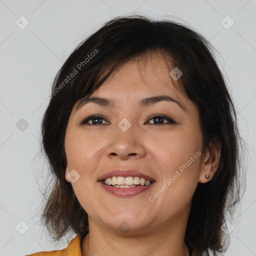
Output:
[[174,87],[174,82],[177,82],[169,75],[171,62],[167,58],[161,53],[132,58],[114,70],[92,95],[134,97],[154,95],[160,91],[178,96],[181,88],[180,85]]

